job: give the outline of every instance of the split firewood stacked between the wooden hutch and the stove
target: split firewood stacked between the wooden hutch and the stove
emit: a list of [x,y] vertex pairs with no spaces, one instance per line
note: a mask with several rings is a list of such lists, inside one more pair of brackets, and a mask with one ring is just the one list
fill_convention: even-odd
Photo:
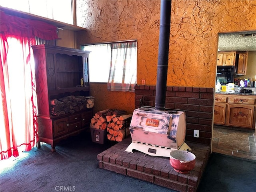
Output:
[[124,110],[106,109],[93,116],[90,127],[107,130],[108,140],[120,142],[130,134],[131,116]]

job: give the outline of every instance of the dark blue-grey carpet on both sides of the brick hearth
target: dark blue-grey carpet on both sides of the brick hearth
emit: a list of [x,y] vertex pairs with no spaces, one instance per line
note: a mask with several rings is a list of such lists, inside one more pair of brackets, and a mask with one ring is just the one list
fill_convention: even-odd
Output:
[[[116,142],[92,142],[90,132],[64,140],[51,152],[43,144],[1,167],[1,192],[172,192],[168,188],[98,168],[97,154]],[[23,157],[22,157],[23,156]],[[0,161],[0,165],[4,164]],[[256,190],[256,162],[211,154],[198,192]]]

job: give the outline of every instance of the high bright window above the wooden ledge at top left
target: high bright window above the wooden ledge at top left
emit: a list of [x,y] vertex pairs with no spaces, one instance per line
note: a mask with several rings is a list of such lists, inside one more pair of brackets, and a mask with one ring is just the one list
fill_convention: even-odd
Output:
[[71,0],[0,0],[6,8],[74,24]]

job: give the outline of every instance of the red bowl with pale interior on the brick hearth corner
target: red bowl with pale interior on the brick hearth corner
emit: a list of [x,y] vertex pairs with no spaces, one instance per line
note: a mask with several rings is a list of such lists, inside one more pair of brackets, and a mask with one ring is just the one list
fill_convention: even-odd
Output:
[[188,151],[175,150],[170,152],[170,164],[176,172],[188,173],[196,165],[196,156]]

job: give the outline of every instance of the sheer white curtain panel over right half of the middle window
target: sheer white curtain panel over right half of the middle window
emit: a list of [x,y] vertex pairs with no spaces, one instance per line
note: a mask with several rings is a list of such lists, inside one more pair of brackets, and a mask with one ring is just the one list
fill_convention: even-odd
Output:
[[137,77],[137,43],[111,44],[109,91],[134,92]]

